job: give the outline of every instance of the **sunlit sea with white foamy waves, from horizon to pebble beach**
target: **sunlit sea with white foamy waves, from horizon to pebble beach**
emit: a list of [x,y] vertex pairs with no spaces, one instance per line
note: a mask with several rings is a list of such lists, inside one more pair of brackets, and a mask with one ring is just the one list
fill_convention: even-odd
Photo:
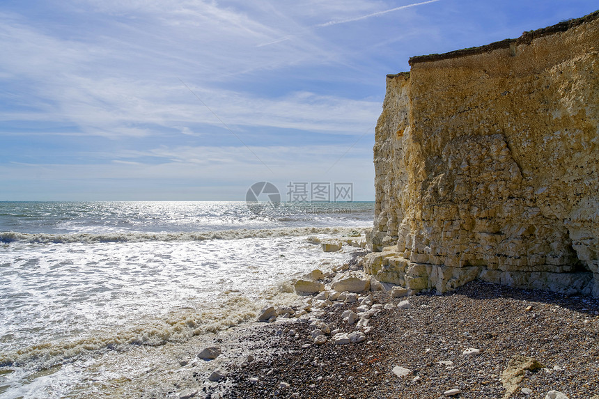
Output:
[[372,220],[373,203],[0,202],[0,398],[121,396],[164,348],[292,301],[284,281],[350,258],[318,240]]

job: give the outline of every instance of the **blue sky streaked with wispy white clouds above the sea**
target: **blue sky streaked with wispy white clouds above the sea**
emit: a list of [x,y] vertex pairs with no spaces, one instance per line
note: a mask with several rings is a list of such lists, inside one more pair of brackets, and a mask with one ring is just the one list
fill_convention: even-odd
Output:
[[[0,2],[0,201],[374,201],[387,74],[596,0]],[[290,184],[291,183],[291,184]]]

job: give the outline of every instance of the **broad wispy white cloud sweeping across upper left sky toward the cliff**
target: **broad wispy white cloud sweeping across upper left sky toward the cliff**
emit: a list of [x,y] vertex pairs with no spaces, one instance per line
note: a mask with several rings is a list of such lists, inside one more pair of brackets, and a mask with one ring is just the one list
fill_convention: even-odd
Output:
[[[75,123],[86,134],[114,138],[158,134],[161,128],[180,130],[182,123],[221,125],[178,79],[192,87],[227,124],[238,127],[361,134],[380,112],[380,104],[375,101],[310,91],[288,91],[273,97],[219,88],[208,77],[219,81],[223,74],[233,74],[237,65],[244,65],[247,72],[293,64],[298,59],[322,62],[317,58],[325,53],[304,41],[290,47],[285,58],[277,50],[249,55],[257,40],[278,34],[279,30],[251,21],[235,10],[202,1],[94,5],[111,15],[139,12],[137,18],[148,16],[143,23],[134,21],[125,29],[134,35],[130,40],[103,35],[89,38],[91,33],[87,33],[84,40],[76,41],[51,36],[27,25],[22,18],[0,15],[0,29],[6,37],[0,51],[15,54],[3,58],[0,68],[4,76],[21,82],[24,90],[17,102],[33,109],[4,111],[0,120]],[[136,24],[153,21],[162,22],[153,37],[160,36],[166,26],[168,42],[146,42],[147,33],[140,33]],[[165,47],[182,36],[188,40],[172,49]],[[227,51],[218,51],[218,47],[226,47]],[[36,99],[33,103],[32,97]]]

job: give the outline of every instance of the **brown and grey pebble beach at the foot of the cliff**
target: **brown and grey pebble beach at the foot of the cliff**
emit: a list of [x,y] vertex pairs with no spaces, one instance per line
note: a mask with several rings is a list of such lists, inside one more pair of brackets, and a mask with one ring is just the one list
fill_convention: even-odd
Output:
[[[350,266],[360,269],[357,260]],[[373,291],[359,293],[357,302],[330,304],[316,297],[304,297],[315,311],[299,318],[223,331],[212,345],[228,360],[203,361],[208,371],[178,382],[181,389],[168,397],[545,398],[554,390],[599,399],[599,299],[481,281],[443,295]],[[363,311],[358,307],[367,298],[373,303],[366,305],[366,327],[343,320],[346,311]],[[398,308],[402,301],[412,308]],[[335,344],[332,331],[317,345],[312,333],[321,322],[342,333],[361,331],[365,339]],[[465,354],[472,348],[478,351]],[[526,361],[536,366],[522,366]],[[508,365],[515,376],[506,374]],[[222,377],[212,382],[216,369]]]

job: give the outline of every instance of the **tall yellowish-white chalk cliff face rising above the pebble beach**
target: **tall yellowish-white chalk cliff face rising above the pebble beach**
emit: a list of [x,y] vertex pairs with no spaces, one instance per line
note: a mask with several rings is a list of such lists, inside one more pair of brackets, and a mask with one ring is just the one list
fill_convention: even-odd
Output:
[[599,13],[410,61],[376,128],[366,270],[599,296]]

